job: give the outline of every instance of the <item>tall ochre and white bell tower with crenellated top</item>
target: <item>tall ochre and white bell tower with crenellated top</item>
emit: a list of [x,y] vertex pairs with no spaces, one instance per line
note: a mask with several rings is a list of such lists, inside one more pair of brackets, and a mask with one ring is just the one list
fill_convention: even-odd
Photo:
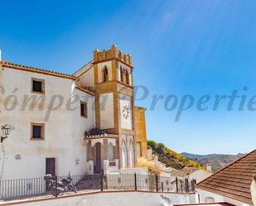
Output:
[[95,123],[99,130],[118,136],[120,168],[136,161],[132,56],[112,46],[94,50]]

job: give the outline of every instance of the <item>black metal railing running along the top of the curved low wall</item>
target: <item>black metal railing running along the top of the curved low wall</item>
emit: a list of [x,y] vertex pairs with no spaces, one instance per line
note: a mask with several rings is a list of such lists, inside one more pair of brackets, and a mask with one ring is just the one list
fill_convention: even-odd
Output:
[[[56,176],[60,181],[66,176]],[[107,174],[71,175],[78,191],[142,190],[170,193],[194,193],[196,180],[159,175]],[[0,199],[22,199],[51,194],[44,177],[0,181]]]

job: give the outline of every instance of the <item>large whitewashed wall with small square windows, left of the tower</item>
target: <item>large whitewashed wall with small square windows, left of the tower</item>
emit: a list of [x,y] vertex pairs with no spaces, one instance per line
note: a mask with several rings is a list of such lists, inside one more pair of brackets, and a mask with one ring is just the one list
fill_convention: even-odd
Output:
[[[31,93],[31,78],[45,79],[46,103],[42,111],[38,111],[38,104],[33,111],[26,108],[21,111],[23,95]],[[58,78],[46,74],[31,73],[16,69],[0,71],[0,85],[5,93],[14,93],[17,96],[17,108],[6,111],[2,108],[2,100],[7,95],[1,96],[0,125],[14,127],[10,137],[4,142],[6,156],[4,166],[0,168],[2,180],[41,177],[46,174],[46,158],[56,158],[56,174],[66,175],[69,171],[73,175],[85,173],[86,146],[84,145],[84,132],[94,127],[94,98],[75,89],[72,79]],[[67,111],[65,103],[51,111],[48,120],[45,119],[46,110],[53,94],[64,97],[65,103],[72,95],[85,96],[88,99],[88,118],[80,117],[80,101],[72,105],[73,111]],[[36,94],[40,97],[41,94]],[[28,104],[30,106],[30,104]],[[31,141],[31,122],[45,123],[45,140]],[[20,155],[21,160],[15,156]],[[3,152],[0,151],[0,165],[2,165]],[[78,164],[77,161],[78,160]],[[2,167],[2,166],[1,166]]]

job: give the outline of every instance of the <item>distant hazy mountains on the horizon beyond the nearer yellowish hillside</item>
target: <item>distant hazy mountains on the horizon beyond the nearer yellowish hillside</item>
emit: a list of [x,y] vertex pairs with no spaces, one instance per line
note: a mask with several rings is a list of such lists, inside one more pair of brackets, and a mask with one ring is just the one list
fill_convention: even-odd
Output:
[[223,155],[223,154],[210,154],[210,155],[195,155],[187,152],[182,152],[182,156],[186,156],[186,158],[190,160],[195,160],[199,162],[201,165],[210,164],[212,166],[212,171],[216,172],[223,168],[225,165],[233,162],[234,160],[238,160],[244,154],[237,155]]

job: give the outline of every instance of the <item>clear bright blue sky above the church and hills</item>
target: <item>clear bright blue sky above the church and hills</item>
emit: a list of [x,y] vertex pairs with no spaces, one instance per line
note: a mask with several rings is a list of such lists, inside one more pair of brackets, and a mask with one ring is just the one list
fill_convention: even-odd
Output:
[[[133,55],[134,84],[149,91],[136,104],[146,108],[161,94],[252,97],[255,9],[254,0],[2,1],[0,48],[4,60],[72,74],[115,43]],[[256,111],[193,107],[175,122],[163,101],[147,110],[148,139],[197,154],[256,148]]]

